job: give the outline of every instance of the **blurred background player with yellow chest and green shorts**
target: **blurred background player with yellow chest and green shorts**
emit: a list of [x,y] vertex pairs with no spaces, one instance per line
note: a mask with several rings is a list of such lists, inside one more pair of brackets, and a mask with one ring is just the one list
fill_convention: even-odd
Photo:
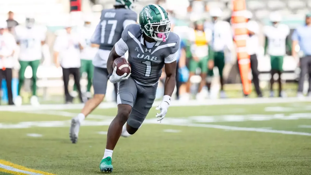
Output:
[[202,100],[206,97],[206,94],[201,93],[202,87],[205,86],[205,80],[207,75],[207,63],[208,59],[212,56],[210,41],[212,37],[211,30],[204,31],[203,21],[196,21],[194,23],[194,30],[189,33],[189,41],[191,42],[191,54],[192,59],[189,62],[189,79],[187,83],[187,93],[190,97],[190,78],[196,74],[197,68],[201,69],[201,83],[199,84],[196,99]]

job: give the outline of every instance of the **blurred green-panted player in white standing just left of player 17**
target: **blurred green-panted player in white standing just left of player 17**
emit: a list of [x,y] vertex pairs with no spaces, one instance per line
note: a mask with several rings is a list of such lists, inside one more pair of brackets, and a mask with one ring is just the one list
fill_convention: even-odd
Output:
[[[92,60],[94,59],[97,51],[98,44],[91,43],[91,37],[95,31],[95,27],[91,24],[92,17],[86,16],[84,20],[84,26],[79,28],[78,33],[85,40],[85,46],[81,51],[81,68],[80,68],[80,77],[82,77],[82,73],[87,73],[87,87],[86,87],[86,97],[91,98],[91,86],[93,81],[93,73],[94,66],[92,64]],[[77,93],[76,84],[73,87],[73,90]]]

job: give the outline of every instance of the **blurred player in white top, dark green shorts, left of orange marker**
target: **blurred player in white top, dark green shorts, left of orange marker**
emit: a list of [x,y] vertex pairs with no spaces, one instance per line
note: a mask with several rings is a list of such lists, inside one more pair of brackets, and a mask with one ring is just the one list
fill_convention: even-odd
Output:
[[223,70],[225,67],[225,51],[229,51],[228,55],[230,55],[232,52],[233,35],[230,23],[220,19],[220,17],[222,17],[222,11],[220,8],[211,9],[210,16],[212,17],[212,22],[207,23],[206,28],[213,32],[211,49],[214,55],[211,56],[208,63],[207,88],[209,91],[211,91],[211,81],[212,77],[214,76],[213,68],[216,66],[218,68],[220,77],[220,98],[225,98],[225,82],[223,78]]

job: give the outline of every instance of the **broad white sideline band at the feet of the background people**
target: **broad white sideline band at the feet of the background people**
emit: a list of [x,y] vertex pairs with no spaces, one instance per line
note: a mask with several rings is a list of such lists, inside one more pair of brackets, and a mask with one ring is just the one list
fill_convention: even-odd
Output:
[[[158,106],[161,101],[155,101],[152,106]],[[213,106],[213,105],[253,105],[253,104],[269,104],[269,103],[294,103],[294,102],[311,102],[311,98],[230,98],[216,100],[189,100],[186,102],[172,101],[170,106]],[[72,110],[82,109],[84,104],[49,104],[35,107],[31,105],[23,106],[0,106],[0,111],[41,111],[41,110]],[[115,102],[103,102],[98,109],[116,108]]]

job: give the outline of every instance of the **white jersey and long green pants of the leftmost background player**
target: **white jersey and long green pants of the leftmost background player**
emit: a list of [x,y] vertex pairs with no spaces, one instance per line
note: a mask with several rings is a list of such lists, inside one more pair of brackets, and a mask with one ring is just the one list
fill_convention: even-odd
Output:
[[16,41],[20,45],[19,63],[21,69],[19,71],[18,94],[25,80],[25,70],[27,66],[32,69],[32,93],[36,95],[37,69],[42,57],[41,41],[45,41],[47,28],[45,26],[33,26],[27,28],[25,26],[16,26]]

